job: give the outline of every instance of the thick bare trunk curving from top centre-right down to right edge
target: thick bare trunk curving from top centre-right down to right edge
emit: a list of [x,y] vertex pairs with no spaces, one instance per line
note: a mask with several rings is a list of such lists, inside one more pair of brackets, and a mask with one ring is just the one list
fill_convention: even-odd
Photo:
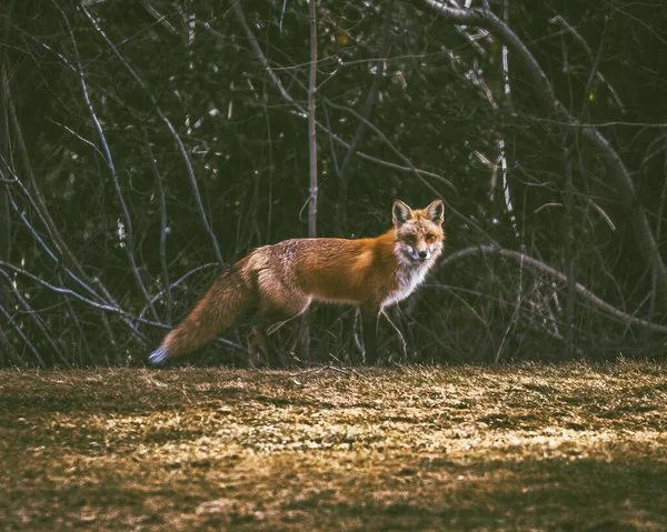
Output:
[[[579,134],[601,155],[607,173],[617,188],[618,197],[633,220],[635,237],[644,260],[657,279],[659,304],[667,310],[667,267],[660,257],[659,249],[644,208],[639,203],[633,179],[623,160],[609,141],[591,124],[581,123],[556,98],[554,88],[546,73],[530,53],[524,41],[486,6],[482,9],[459,9],[447,7],[436,0],[411,0],[418,9],[439,14],[446,22],[468,24],[494,31],[494,34],[506,44],[515,58],[524,64],[541,107],[550,116],[560,120],[563,126],[579,128]],[[558,121],[557,120],[557,121]]]

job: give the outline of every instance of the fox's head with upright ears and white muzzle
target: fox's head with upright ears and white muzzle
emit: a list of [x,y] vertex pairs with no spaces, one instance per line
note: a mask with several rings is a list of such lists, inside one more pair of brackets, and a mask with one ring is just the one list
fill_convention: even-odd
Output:
[[396,252],[411,263],[427,262],[442,252],[445,204],[432,201],[426,209],[410,209],[400,200],[391,209]]

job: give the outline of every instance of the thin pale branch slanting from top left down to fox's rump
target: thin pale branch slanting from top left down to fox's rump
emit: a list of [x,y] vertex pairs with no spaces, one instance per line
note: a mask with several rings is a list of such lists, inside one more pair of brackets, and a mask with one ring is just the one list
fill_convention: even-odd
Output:
[[183,162],[186,163],[186,169],[188,170],[188,178],[190,180],[190,188],[192,189],[192,194],[193,194],[195,201],[197,203],[197,210],[199,211],[199,219],[201,221],[201,224],[203,225],[203,229],[206,230],[207,234],[209,235],[209,238],[211,240],[211,245],[213,248],[213,252],[216,254],[216,259],[219,262],[225,263],[225,261],[222,260],[222,253],[220,253],[220,245],[218,244],[218,239],[216,238],[216,234],[213,233],[213,230],[211,229],[211,225],[210,225],[210,223],[208,221],[208,218],[206,215],[206,211],[203,209],[203,202],[201,201],[201,194],[199,192],[199,185],[197,184],[197,179],[195,178],[195,170],[192,168],[192,162],[190,161],[190,157],[188,155],[188,151],[186,150],[186,145],[183,144],[183,141],[181,140],[180,135],[176,131],[176,128],[173,127],[173,124],[171,123],[171,121],[162,112],[162,109],[158,104],[158,100],[153,96],[153,93],[150,90],[150,87],[148,86],[148,83],[146,81],[143,81],[143,79],[137,73],[137,71],[132,68],[132,66],[125,58],[125,56],[122,56],[118,51],[118,48],[116,47],[116,44],[113,44],[113,42],[111,42],[111,40],[109,39],[109,37],[107,37],[107,33],[104,33],[104,31],[102,31],[102,29],[98,26],[97,21],[92,18],[92,16],[88,11],[88,9],[86,9],[86,7],[83,4],[81,4],[80,7],[81,7],[81,10],[83,11],[83,13],[86,14],[86,17],[88,17],[88,20],[90,21],[90,23],[92,24],[92,27],[94,28],[94,30],[107,42],[107,44],[109,44],[109,48],[111,49],[111,51],[113,51],[113,53],[116,54],[116,57],[126,67],[126,69],[128,70],[128,72],[130,72],[130,76],[132,78],[135,78],[135,81],[137,81],[137,83],[139,84],[139,87],[146,92],[146,94],[148,96],[148,98],[151,101],[151,104],[152,104],[156,113],[158,114],[158,117],[160,117],[160,119],[162,119],[162,121],[167,126],[167,129],[169,129],[169,132],[173,137],[173,140],[175,140],[176,144],[178,145],[178,149],[179,149],[179,151],[181,153],[181,157],[183,158]]

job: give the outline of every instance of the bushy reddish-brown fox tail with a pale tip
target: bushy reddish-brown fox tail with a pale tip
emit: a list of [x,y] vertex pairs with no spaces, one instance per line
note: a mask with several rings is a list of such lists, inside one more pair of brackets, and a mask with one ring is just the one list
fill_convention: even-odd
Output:
[[212,341],[225,329],[235,324],[252,299],[253,290],[238,269],[220,275],[197,303],[183,322],[162,340],[148,358],[159,364],[168,358],[187,354]]

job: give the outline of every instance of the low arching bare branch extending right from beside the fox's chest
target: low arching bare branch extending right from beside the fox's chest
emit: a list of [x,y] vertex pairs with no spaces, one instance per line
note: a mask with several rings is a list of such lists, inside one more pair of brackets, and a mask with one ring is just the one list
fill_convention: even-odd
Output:
[[[447,264],[456,262],[460,259],[464,259],[466,257],[477,255],[477,254],[481,254],[481,255],[499,254],[502,257],[508,257],[516,261],[524,261],[524,263],[526,265],[528,265],[532,269],[539,270],[544,273],[547,273],[550,277],[556,278],[559,281],[567,284],[567,275],[565,275],[564,273],[559,272],[558,270],[551,268],[550,265],[545,264],[544,262],[541,262],[537,259],[534,259],[532,257],[529,257],[525,253],[508,250],[505,248],[499,248],[496,245],[474,245],[470,248],[462,249],[462,250],[457,251],[456,253],[452,253],[452,254],[446,257],[445,259],[442,259],[439,262],[437,268],[444,268]],[[604,312],[607,312],[611,317],[619,320],[621,323],[625,323],[626,325],[643,327],[643,328],[648,329],[654,332],[667,334],[667,327],[659,325],[657,323],[651,323],[649,321],[643,320],[640,318],[635,318],[634,315],[623,312],[621,310],[618,310],[616,307],[613,307],[609,303],[607,303],[605,300],[598,298],[596,294],[594,294],[590,290],[588,290],[586,287],[584,287],[580,283],[576,283],[575,288],[577,290],[577,293],[579,295],[581,295],[584,299],[588,300],[595,308],[597,308]]]

